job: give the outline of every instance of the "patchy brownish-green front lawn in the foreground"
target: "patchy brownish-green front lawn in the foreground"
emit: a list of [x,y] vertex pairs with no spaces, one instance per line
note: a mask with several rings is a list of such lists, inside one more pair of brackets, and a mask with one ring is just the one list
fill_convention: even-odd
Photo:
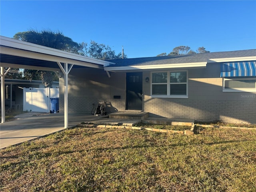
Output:
[[73,128],[0,150],[6,192],[254,192],[256,130]]

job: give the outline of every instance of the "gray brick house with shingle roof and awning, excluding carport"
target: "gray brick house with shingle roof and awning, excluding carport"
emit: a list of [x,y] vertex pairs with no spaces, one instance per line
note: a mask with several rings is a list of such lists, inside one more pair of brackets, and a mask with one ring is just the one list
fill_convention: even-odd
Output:
[[[256,123],[256,50],[108,60],[103,69],[69,73],[69,111],[113,111],[202,122]],[[60,78],[60,111],[64,110]]]

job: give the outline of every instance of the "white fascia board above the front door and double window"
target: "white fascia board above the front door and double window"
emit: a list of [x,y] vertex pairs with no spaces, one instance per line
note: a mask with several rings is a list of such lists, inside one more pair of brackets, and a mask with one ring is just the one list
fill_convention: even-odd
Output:
[[154,69],[170,69],[170,68],[205,68],[206,62],[196,63],[178,63],[178,64],[161,64],[161,65],[134,65],[123,67],[104,67],[106,71],[121,71],[121,70],[154,70]]

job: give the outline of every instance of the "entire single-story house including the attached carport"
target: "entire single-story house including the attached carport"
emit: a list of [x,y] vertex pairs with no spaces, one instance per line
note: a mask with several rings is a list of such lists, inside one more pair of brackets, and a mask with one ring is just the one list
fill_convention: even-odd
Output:
[[0,57],[2,123],[10,68],[61,74],[64,128],[68,112],[91,112],[101,100],[111,112],[256,123],[256,50],[103,61],[0,36]]

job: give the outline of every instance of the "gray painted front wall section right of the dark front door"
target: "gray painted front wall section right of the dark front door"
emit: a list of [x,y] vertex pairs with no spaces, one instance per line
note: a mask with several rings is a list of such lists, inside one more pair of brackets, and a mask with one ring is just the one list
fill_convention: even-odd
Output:
[[[143,73],[147,76],[150,71]],[[188,70],[188,79],[188,98],[151,98],[150,83],[144,82],[143,110],[166,118],[256,123],[256,93],[222,92],[220,64]]]

